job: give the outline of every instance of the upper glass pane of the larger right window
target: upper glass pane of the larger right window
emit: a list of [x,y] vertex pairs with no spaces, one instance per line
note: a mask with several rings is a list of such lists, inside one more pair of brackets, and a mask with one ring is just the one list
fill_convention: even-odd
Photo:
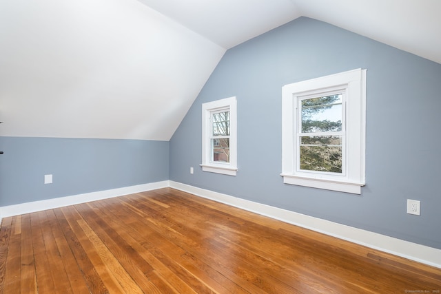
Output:
[[302,133],[342,130],[342,94],[302,100]]

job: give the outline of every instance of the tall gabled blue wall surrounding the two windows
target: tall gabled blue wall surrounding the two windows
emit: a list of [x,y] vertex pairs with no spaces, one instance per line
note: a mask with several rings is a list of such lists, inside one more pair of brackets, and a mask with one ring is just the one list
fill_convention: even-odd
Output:
[[[367,69],[360,196],[283,184],[283,85]],[[170,140],[170,180],[441,249],[441,65],[302,17],[228,50]],[[238,174],[203,172],[201,103],[237,96]],[[189,174],[189,167],[195,167]],[[421,216],[406,213],[421,200]]]

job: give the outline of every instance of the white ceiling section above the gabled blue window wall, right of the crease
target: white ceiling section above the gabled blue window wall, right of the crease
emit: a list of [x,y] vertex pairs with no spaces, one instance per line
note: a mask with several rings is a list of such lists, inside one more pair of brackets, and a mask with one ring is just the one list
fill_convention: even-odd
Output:
[[440,0],[139,0],[223,48],[300,16],[441,63]]

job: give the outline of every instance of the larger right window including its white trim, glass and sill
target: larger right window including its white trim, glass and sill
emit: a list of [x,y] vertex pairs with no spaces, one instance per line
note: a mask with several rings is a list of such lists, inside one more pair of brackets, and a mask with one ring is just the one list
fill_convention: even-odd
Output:
[[283,87],[284,182],[349,193],[365,185],[366,70]]

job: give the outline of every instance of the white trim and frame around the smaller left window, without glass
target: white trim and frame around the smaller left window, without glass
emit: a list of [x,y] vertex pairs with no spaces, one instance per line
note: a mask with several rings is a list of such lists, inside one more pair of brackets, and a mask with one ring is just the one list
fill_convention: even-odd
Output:
[[[211,162],[209,137],[211,114],[220,109],[229,109],[229,162]],[[202,170],[217,174],[236,176],[237,173],[237,106],[236,97],[224,98],[202,104]]]

